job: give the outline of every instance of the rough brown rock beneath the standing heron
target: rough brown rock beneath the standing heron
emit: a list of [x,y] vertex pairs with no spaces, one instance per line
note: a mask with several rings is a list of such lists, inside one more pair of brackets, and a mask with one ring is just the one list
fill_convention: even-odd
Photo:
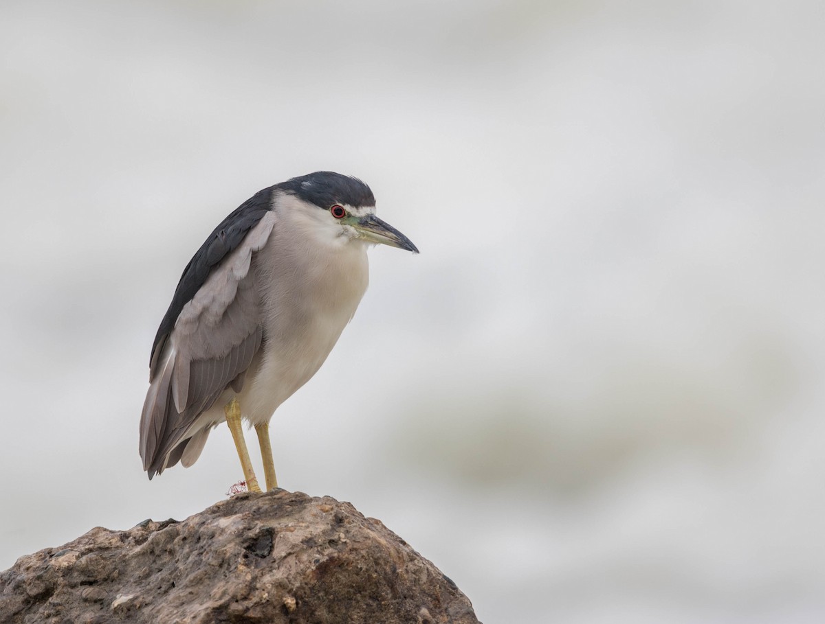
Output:
[[478,622],[455,584],[349,503],[276,490],[92,529],[0,572],[0,622]]

